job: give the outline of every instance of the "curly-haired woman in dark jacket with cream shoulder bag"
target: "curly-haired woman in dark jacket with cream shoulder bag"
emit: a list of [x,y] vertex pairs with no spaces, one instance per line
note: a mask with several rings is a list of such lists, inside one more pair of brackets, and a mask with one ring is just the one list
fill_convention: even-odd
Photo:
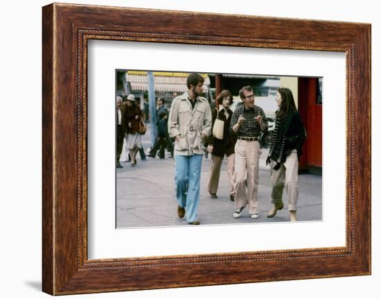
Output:
[[233,111],[229,106],[233,103],[233,96],[224,89],[215,99],[215,109],[212,110],[212,133],[209,139],[208,151],[212,154],[211,175],[208,181],[208,192],[211,198],[217,198],[218,182],[220,181],[221,164],[224,155],[227,155],[227,172],[230,185],[230,199],[236,196],[236,176],[234,146],[236,139],[229,131]]

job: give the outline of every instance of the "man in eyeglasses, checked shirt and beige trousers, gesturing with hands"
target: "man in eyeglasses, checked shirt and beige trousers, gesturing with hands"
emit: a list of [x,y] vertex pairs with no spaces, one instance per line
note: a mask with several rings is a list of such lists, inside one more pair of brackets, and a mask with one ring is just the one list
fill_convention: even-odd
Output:
[[234,151],[236,153],[236,198],[234,200],[234,218],[239,218],[242,210],[249,206],[251,218],[257,219],[259,157],[262,152],[259,145],[260,131],[266,132],[267,119],[263,109],[254,105],[254,91],[251,86],[240,89],[240,99],[231,117],[230,128],[237,136]]

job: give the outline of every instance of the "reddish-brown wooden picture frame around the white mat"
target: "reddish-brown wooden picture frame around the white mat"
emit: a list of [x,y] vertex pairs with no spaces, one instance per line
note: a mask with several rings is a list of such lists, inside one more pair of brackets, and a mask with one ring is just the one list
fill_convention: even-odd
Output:
[[[63,295],[371,273],[370,24],[53,3],[43,8],[42,34],[44,292]],[[346,246],[88,259],[91,39],[346,53]]]

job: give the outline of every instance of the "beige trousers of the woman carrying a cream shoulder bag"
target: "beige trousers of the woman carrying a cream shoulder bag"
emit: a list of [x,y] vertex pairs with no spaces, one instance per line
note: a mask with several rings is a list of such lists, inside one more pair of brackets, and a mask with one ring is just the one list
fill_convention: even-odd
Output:
[[[236,173],[235,173],[235,161],[236,155],[231,154],[227,157],[227,175],[229,177],[230,192],[229,194],[236,193]],[[211,167],[211,176],[208,181],[208,192],[217,193],[218,182],[220,181],[222,157],[213,156],[213,163]]]

